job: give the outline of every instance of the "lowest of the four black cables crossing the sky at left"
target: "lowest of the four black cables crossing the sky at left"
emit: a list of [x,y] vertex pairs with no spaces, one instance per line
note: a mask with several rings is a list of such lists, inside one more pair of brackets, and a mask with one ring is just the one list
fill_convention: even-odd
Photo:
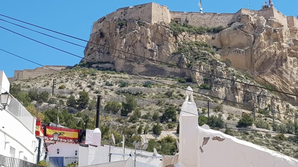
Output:
[[[0,50],[2,50],[2,49],[0,49]],[[35,63],[35,64],[37,64],[37,65],[43,66],[43,65],[41,65],[41,64],[39,64],[39,63],[36,63],[36,62],[34,62],[34,61],[31,61],[31,60],[28,60],[28,59],[26,59],[26,58],[23,58],[23,57],[21,57],[21,56],[15,55],[15,54],[13,54],[13,53],[7,52],[7,51],[5,51],[5,50],[2,50],[2,51],[6,52],[6,53],[9,53],[9,54],[11,54],[11,55],[14,55],[14,56],[16,56],[16,57],[18,57],[18,58],[24,59],[24,60],[26,60],[26,61],[30,61],[31,63]],[[46,66],[43,66],[43,67],[46,67]],[[49,67],[46,67],[46,68],[51,69],[51,68],[49,68]],[[90,81],[87,81],[87,80],[84,80],[84,79],[81,79],[81,78],[77,78],[77,77],[75,77],[75,76],[72,76],[72,75],[63,73],[63,72],[58,71],[58,70],[55,70],[55,69],[51,69],[51,70],[53,70],[53,71],[57,71],[57,72],[59,72],[59,73],[61,73],[61,74],[65,74],[65,75],[67,75],[67,76],[69,76],[69,77],[73,77],[73,78],[76,78],[76,79],[79,79],[79,80],[82,80],[82,81],[91,83]],[[97,84],[94,84],[94,85],[97,85]],[[110,88],[106,88],[106,87],[104,87],[104,86],[100,86],[100,85],[97,85],[97,86],[102,87],[102,88],[105,88],[105,89],[108,89],[108,90],[112,90],[112,89],[110,89]],[[112,90],[112,91],[116,91],[116,92],[117,92],[117,90]],[[124,94],[124,93],[122,93],[122,94]],[[124,94],[124,95],[131,96],[131,97],[134,97],[134,98],[138,98],[138,97],[135,97],[135,96],[132,96],[132,95],[129,95],[129,94]],[[148,101],[148,100],[146,100],[146,99],[142,99],[142,98],[138,98],[138,99],[141,99],[141,100],[143,100],[143,101]],[[148,102],[153,103],[153,104],[156,104],[156,105],[160,105],[160,106],[165,106],[165,107],[167,107],[167,108],[174,109],[174,110],[176,110],[176,111],[178,111],[178,112],[185,112],[185,111],[182,111],[182,110],[180,111],[180,110],[175,109],[175,108],[170,107],[170,106],[166,106],[166,105],[163,105],[163,104],[155,103],[155,102],[153,102],[153,101],[148,101]],[[185,112],[185,113],[193,114],[193,113],[190,113],[190,112]],[[200,116],[200,115],[198,115],[198,114],[193,114],[193,115]],[[205,116],[200,116],[200,117],[204,117],[204,118],[207,118],[207,119],[212,119],[212,118],[205,117]],[[222,122],[222,123],[226,123],[226,122],[224,122],[224,121],[222,121],[222,120],[220,120],[220,122]],[[235,125],[235,124],[231,124],[231,123],[226,123],[226,124],[234,125],[234,126],[238,126],[238,127],[241,127],[241,128],[246,128],[246,129],[254,130],[254,129],[252,129],[252,128],[247,128],[247,127],[243,127],[243,126],[239,126],[239,125]],[[263,132],[264,132],[264,133],[271,134],[271,135],[277,135],[277,134],[272,134],[272,133],[265,132],[265,131],[263,131]],[[278,136],[278,135],[277,135],[277,136]],[[290,137],[285,137],[285,138],[293,139],[293,140],[297,140],[297,141],[298,141],[298,139],[294,139],[294,138],[290,138]]]

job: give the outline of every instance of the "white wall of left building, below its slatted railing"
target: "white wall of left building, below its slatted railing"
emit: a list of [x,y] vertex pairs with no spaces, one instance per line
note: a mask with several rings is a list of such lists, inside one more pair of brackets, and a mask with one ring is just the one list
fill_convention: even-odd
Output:
[[[2,107],[2,106],[0,106]],[[35,124],[35,122],[32,122]],[[3,128],[4,127],[4,128]],[[35,131],[35,127],[34,127]],[[29,131],[13,114],[7,110],[0,112],[0,154],[10,157],[10,147],[15,149],[15,157],[28,162],[36,162],[35,148],[38,142],[35,134]]]

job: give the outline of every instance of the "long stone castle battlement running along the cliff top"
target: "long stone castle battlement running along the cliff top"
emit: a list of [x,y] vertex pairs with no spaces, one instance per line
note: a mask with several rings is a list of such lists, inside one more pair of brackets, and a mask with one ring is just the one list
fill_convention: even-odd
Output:
[[123,7],[117,9],[105,17],[94,22],[92,33],[100,29],[100,25],[103,20],[112,20],[114,17],[118,17],[120,20],[139,20],[148,23],[165,22],[170,23],[175,21],[177,23],[188,23],[193,26],[228,26],[241,14],[253,14],[257,16],[263,16],[266,20],[271,17],[276,18],[286,27],[298,27],[298,19],[294,16],[286,17],[281,12],[278,12],[274,7],[261,9],[261,10],[249,10],[240,9],[236,13],[200,13],[200,12],[176,12],[170,11],[166,6],[156,3],[140,4],[133,7]]

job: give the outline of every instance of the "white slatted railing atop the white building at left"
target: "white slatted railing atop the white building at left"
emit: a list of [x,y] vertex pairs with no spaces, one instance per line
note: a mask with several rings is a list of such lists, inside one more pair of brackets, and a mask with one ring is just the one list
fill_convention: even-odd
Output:
[[[5,92],[5,90],[0,86],[0,93]],[[1,106],[2,107],[2,106]],[[9,106],[6,110],[18,118],[32,133],[34,133],[34,119],[27,109],[16,99],[12,98]]]

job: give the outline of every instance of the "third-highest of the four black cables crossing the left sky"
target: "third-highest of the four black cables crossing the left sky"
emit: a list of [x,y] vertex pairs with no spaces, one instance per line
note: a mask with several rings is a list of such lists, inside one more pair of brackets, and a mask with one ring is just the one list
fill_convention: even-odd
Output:
[[[85,59],[85,60],[87,60],[87,61],[91,61],[91,62],[93,62],[93,63],[97,63],[97,64],[100,64],[100,65],[102,65],[102,66],[106,66],[106,67],[108,67],[108,68],[113,68],[113,69],[115,69],[115,70],[125,72],[125,71],[123,71],[123,70],[116,69],[116,68],[114,68],[114,67],[110,67],[110,66],[107,66],[107,65],[105,65],[105,64],[98,63],[98,62],[96,62],[96,61],[92,61],[92,60],[86,59],[85,57],[81,57],[81,56],[75,55],[75,54],[73,54],[73,53],[70,53],[70,52],[67,52],[67,51],[65,51],[65,50],[59,49],[59,48],[57,48],[57,47],[53,47],[53,46],[51,46],[51,45],[48,45],[48,44],[45,44],[45,43],[43,43],[43,42],[37,41],[37,40],[32,39],[32,38],[30,38],[30,37],[24,36],[24,35],[22,35],[22,34],[19,34],[19,33],[15,32],[15,31],[9,30],[9,29],[4,28],[4,27],[2,27],[2,26],[0,26],[0,28],[3,28],[3,29],[5,29],[5,30],[7,30],[7,31],[13,32],[13,33],[15,33],[15,34],[17,34],[17,35],[23,36],[23,37],[25,37],[25,38],[27,38],[27,39],[30,39],[30,40],[35,41],[35,42],[38,42],[38,43],[40,43],[40,44],[46,45],[46,46],[51,47],[51,48],[53,48],[53,49],[59,50],[59,51],[61,51],[61,52],[64,52],[64,53],[73,55],[73,56],[75,56],[75,57],[82,58],[82,59]],[[4,50],[3,50],[3,51],[4,51]],[[41,65],[41,66],[42,66],[42,65]],[[127,74],[130,74],[130,75],[134,75],[134,76],[140,77],[140,78],[148,79],[148,80],[151,80],[151,81],[154,81],[154,82],[158,82],[158,83],[161,83],[161,84],[164,84],[164,85],[172,86],[172,87],[175,87],[175,88],[180,88],[180,87],[175,86],[175,85],[170,85],[170,84],[167,84],[167,83],[164,83],[164,82],[156,81],[156,80],[153,80],[153,79],[150,79],[150,78],[146,78],[146,77],[143,77],[143,76],[140,76],[140,75],[137,75],[137,74],[132,74],[132,73],[129,73],[129,72],[126,72],[126,73],[127,73]],[[187,90],[187,89],[185,89],[185,88],[180,88],[180,89]],[[247,104],[238,103],[238,102],[235,102],[235,101],[225,100],[225,99],[223,99],[223,98],[219,98],[219,97],[215,97],[215,96],[211,96],[211,95],[206,95],[206,94],[204,94],[204,93],[199,93],[199,92],[196,92],[196,91],[193,91],[193,92],[194,92],[194,93],[201,94],[201,95],[204,95],[204,96],[209,96],[209,97],[212,97],[212,98],[217,98],[217,99],[220,99],[220,100],[223,100],[223,101],[226,101],[226,102],[230,102],[230,103],[234,103],[234,104],[239,104],[239,105],[246,106],[246,107],[251,107],[251,108],[256,108],[256,109],[262,109],[262,108],[259,108],[259,107],[254,107],[254,106],[250,106],[250,105],[247,105]],[[269,111],[269,112],[272,112],[272,113],[274,112],[274,113],[277,113],[277,114],[283,114],[283,115],[287,115],[287,116],[290,116],[290,117],[296,117],[296,116],[293,116],[293,115],[284,114],[284,113],[275,112],[275,111],[270,111],[270,110],[267,110],[267,109],[262,109],[262,110]],[[298,117],[297,117],[297,118],[298,118]]]

